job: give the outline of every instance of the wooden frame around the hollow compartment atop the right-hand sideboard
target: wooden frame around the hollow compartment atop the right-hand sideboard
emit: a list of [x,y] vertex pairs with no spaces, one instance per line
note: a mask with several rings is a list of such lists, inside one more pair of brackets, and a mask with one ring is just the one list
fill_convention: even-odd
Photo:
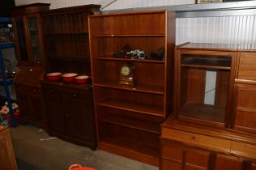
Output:
[[[234,85],[234,79],[235,79],[235,70],[236,70],[236,53],[235,50],[230,50],[230,49],[210,49],[210,48],[200,48],[200,44],[195,44],[193,46],[193,44],[190,44],[192,47],[190,48],[186,48],[185,45],[184,47],[182,45],[180,45],[180,47],[176,47],[176,62],[175,62],[175,117],[177,120],[180,121],[192,121],[195,123],[200,123],[203,125],[214,125],[214,126],[219,126],[219,127],[231,127],[232,125],[232,93],[233,93],[233,85]],[[198,46],[198,47],[197,47]],[[201,66],[201,64],[196,64],[196,65],[187,65],[187,64],[182,64],[181,63],[181,56],[183,56],[184,54],[189,54],[189,55],[195,55],[195,56],[206,56],[206,57],[215,57],[215,56],[221,56],[221,57],[229,57],[231,62],[230,62],[230,66]],[[209,70],[223,70],[225,72],[225,70],[228,70],[229,74],[228,76],[224,76],[223,75],[219,75],[219,76],[224,76],[224,77],[228,77],[228,81],[227,81],[227,85],[226,86],[226,91],[228,92],[228,94],[226,94],[226,97],[222,97],[222,96],[215,96],[215,103],[219,103],[222,104],[223,102],[226,102],[225,108],[223,110],[224,115],[223,115],[223,121],[217,121],[217,119],[213,119],[213,120],[202,120],[200,117],[196,117],[196,118],[192,118],[192,117],[180,117],[180,109],[181,109],[181,98],[182,98],[182,94],[181,91],[184,90],[181,89],[181,86],[184,88],[187,88],[186,86],[188,85],[188,83],[181,83],[181,80],[184,79],[181,77],[181,68],[196,68],[196,69],[203,69],[203,68],[209,68]],[[224,73],[223,72],[223,73]],[[192,73],[193,74],[193,73]],[[199,74],[198,74],[199,76]],[[201,75],[200,75],[201,76]],[[217,74],[217,79],[216,79],[216,91],[219,91],[220,94],[222,94],[221,91],[223,91],[221,89],[221,84],[218,83],[222,83],[223,80],[225,79],[220,79],[221,77],[219,77]],[[202,79],[203,77],[206,77],[205,74],[202,74]],[[202,79],[200,79],[200,81],[202,81]],[[227,80],[227,79],[226,79]],[[226,81],[225,80],[225,81]],[[198,82],[197,82],[198,83]],[[197,87],[200,84],[197,85]],[[223,84],[224,85],[224,84]],[[203,87],[201,87],[200,90],[202,92],[204,92]],[[193,92],[197,91],[194,90]],[[198,91],[199,92],[199,91]],[[185,95],[185,94],[184,94]],[[184,96],[183,95],[183,96]],[[188,94],[187,94],[188,95]],[[186,95],[185,95],[186,96]],[[203,96],[203,94],[201,95]],[[199,96],[200,97],[200,96]],[[198,98],[198,96],[197,96]],[[219,99],[220,101],[216,101]],[[221,101],[222,98],[226,101]],[[203,102],[203,99],[197,99],[199,103]],[[188,102],[187,100],[184,100],[184,102]],[[189,107],[189,106],[188,106]],[[192,106],[191,106],[192,107]],[[189,108],[188,108],[189,109]],[[204,108],[206,110],[208,110],[208,108]],[[209,112],[209,110],[207,111]],[[219,112],[219,111],[217,111]]]

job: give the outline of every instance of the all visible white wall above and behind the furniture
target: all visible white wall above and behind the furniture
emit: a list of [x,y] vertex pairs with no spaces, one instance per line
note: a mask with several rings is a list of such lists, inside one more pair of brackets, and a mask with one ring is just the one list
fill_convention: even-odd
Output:
[[[35,2],[51,3],[50,9],[100,4],[106,6],[114,0],[15,0],[17,6]],[[145,6],[172,6],[193,4],[195,0],[117,0],[107,10]],[[248,43],[256,44],[256,14],[243,16],[176,19],[176,44],[183,42]]]

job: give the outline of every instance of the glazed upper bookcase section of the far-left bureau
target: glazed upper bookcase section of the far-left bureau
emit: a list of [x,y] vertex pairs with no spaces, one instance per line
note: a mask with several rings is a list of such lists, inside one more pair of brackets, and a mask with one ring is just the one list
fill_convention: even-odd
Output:
[[45,64],[41,13],[49,11],[49,6],[50,4],[35,3],[11,10],[15,53],[20,65]]

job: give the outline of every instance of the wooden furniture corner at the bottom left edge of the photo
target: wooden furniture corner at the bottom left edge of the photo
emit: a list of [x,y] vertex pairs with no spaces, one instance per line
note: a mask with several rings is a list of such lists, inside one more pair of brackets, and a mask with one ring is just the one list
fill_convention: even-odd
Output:
[[0,125],[0,169],[17,170],[11,133]]

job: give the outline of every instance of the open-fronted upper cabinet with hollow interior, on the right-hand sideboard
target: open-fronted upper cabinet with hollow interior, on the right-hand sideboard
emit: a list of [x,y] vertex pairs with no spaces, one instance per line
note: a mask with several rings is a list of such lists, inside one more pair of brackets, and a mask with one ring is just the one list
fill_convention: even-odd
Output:
[[236,49],[187,44],[176,49],[176,118],[230,127]]

